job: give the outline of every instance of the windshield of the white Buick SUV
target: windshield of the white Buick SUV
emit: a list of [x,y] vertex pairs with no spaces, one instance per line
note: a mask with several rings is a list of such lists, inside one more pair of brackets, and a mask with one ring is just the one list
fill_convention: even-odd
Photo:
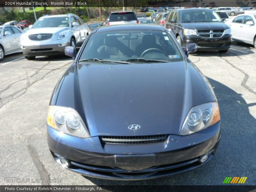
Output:
[[69,18],[68,17],[47,17],[39,18],[33,25],[35,28],[46,28],[46,27],[68,27]]

